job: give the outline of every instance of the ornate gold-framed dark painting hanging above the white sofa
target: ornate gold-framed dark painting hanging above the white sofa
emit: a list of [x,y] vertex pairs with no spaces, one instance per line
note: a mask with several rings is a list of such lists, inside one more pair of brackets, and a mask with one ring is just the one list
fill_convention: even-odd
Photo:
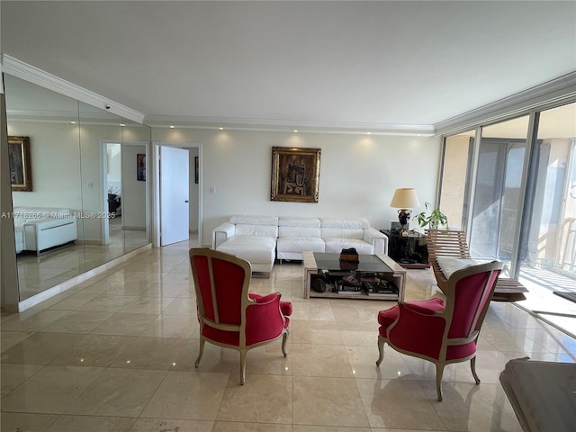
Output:
[[272,148],[270,201],[318,202],[320,148]]

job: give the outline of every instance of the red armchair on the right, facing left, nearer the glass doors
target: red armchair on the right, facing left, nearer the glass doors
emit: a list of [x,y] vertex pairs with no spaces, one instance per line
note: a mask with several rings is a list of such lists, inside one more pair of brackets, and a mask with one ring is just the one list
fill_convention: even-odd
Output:
[[446,302],[399,302],[378,312],[380,356],[376,365],[383,361],[384,343],[403,354],[434,363],[438,401],[442,401],[446,365],[470,359],[474,381],[479,384],[476,341],[501,269],[502,264],[496,261],[464,267],[448,279]]

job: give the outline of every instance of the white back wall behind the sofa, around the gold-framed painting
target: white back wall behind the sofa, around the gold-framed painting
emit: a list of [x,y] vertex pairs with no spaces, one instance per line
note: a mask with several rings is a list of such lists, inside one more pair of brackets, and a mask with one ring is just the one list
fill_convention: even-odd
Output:
[[[439,137],[152,128],[152,140],[202,143],[205,245],[232,214],[363,216],[385,229],[398,218],[390,207],[396,188],[416,188],[422,208],[415,212],[436,196]],[[319,202],[270,201],[274,146],[321,148]]]

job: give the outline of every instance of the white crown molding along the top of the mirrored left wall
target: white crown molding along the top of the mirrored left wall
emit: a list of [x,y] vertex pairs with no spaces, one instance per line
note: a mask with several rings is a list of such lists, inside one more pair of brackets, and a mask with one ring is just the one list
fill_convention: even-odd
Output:
[[112,112],[122,118],[139,123],[144,121],[144,114],[141,112],[132,110],[121,103],[116,103],[100,94],[95,94],[79,85],[72,84],[4,53],[2,53],[2,72],[32,84],[40,85],[40,87],[48,88],[58,94],[64,94],[80,102],[88,103],[104,112]]

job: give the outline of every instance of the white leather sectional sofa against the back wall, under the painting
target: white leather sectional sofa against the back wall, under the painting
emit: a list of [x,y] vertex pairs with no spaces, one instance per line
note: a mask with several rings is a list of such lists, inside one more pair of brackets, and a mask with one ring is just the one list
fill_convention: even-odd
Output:
[[269,273],[275,259],[302,260],[302,251],[388,254],[388,238],[364,218],[232,216],[212,231],[212,248],[246,259],[253,272]]

